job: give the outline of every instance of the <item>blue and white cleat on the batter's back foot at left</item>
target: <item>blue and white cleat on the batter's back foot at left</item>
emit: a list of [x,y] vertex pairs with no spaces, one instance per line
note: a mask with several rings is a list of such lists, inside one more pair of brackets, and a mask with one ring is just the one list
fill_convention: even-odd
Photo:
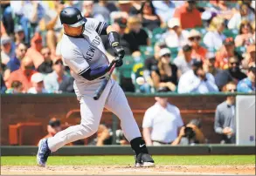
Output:
[[41,139],[38,145],[37,162],[38,166],[46,166],[46,161],[51,154],[51,150],[48,147],[47,139]]

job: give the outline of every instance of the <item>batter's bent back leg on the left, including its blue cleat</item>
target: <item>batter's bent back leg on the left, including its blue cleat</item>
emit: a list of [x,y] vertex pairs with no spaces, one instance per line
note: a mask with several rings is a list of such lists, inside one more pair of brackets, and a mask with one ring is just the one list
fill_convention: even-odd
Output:
[[98,126],[100,125],[100,117],[107,98],[107,89],[109,90],[110,86],[106,87],[106,90],[103,91],[100,99],[97,101],[93,99],[94,91],[92,91],[92,95],[84,95],[80,98],[80,125],[70,126],[66,130],[58,132],[52,138],[40,140],[37,155],[38,166],[45,166],[47,158],[51,152],[57,151],[60,147],[65,146],[70,142],[85,139],[97,132]]

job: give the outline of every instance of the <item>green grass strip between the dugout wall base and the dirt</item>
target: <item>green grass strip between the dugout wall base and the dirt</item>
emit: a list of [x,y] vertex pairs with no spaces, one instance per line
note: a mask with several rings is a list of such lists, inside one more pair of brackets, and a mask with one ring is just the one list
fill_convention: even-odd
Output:
[[[255,165],[255,155],[153,156],[156,165],[245,166]],[[48,166],[134,165],[133,156],[52,156]],[[35,166],[36,157],[1,157],[2,166]]]

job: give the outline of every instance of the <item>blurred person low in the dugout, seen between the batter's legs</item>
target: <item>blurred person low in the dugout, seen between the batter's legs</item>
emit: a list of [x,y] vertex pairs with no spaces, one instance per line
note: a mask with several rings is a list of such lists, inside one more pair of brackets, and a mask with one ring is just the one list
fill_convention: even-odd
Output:
[[98,131],[95,133],[95,138],[88,143],[88,145],[93,146],[104,146],[104,145],[110,145],[110,141],[108,139],[110,138],[110,132],[107,129],[106,125],[100,124]]

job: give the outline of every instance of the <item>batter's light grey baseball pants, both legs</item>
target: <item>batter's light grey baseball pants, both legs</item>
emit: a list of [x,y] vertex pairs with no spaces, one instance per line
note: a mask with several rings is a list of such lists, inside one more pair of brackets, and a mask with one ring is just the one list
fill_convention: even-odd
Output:
[[52,152],[70,142],[85,139],[97,132],[104,107],[120,118],[121,129],[128,141],[141,137],[141,132],[120,85],[110,79],[100,98],[94,100],[93,93],[99,86],[100,81],[84,87],[74,86],[76,93],[79,91],[82,95],[78,96],[80,97],[81,122],[80,125],[70,126],[48,139],[48,146]]

